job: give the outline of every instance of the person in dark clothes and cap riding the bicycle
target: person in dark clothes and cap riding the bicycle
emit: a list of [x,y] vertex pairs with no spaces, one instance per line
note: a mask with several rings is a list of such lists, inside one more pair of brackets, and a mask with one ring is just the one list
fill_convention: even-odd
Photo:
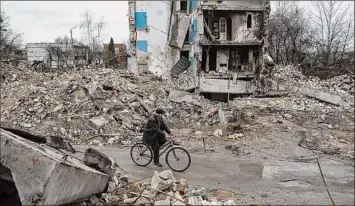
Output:
[[143,142],[152,148],[154,165],[158,167],[163,166],[159,163],[159,148],[166,142],[164,131],[171,135],[170,129],[164,123],[163,114],[165,114],[163,109],[156,109],[155,114],[148,119],[143,133]]

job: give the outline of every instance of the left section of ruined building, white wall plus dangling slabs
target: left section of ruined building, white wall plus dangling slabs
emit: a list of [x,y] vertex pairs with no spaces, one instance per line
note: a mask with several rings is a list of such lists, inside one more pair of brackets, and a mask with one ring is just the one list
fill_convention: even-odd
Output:
[[[130,57],[128,68],[134,73],[146,70],[168,77],[170,69],[187,56],[194,61],[197,42],[198,1],[129,1]],[[188,36],[188,42],[185,37]],[[186,53],[188,52],[188,55]],[[191,70],[196,70],[196,63]],[[196,73],[196,72],[195,72]]]

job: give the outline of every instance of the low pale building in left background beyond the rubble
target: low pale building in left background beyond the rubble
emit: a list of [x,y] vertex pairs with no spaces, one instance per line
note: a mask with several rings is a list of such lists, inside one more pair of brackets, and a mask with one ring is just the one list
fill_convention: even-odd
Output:
[[28,43],[27,61],[41,63],[45,68],[57,69],[82,66],[88,63],[89,47],[66,43]]

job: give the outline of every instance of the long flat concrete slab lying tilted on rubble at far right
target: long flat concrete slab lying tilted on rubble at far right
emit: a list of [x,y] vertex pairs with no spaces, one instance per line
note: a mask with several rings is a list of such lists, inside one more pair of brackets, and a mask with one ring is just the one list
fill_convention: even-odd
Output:
[[335,94],[330,94],[321,90],[310,89],[306,87],[300,88],[298,91],[308,97],[315,98],[336,106],[341,106],[343,104],[341,97]]

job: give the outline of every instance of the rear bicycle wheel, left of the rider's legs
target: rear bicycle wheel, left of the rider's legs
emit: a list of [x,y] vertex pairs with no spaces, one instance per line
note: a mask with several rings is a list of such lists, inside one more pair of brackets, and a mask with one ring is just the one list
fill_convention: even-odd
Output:
[[144,143],[136,143],[131,148],[131,158],[138,166],[147,166],[153,160],[152,149]]

